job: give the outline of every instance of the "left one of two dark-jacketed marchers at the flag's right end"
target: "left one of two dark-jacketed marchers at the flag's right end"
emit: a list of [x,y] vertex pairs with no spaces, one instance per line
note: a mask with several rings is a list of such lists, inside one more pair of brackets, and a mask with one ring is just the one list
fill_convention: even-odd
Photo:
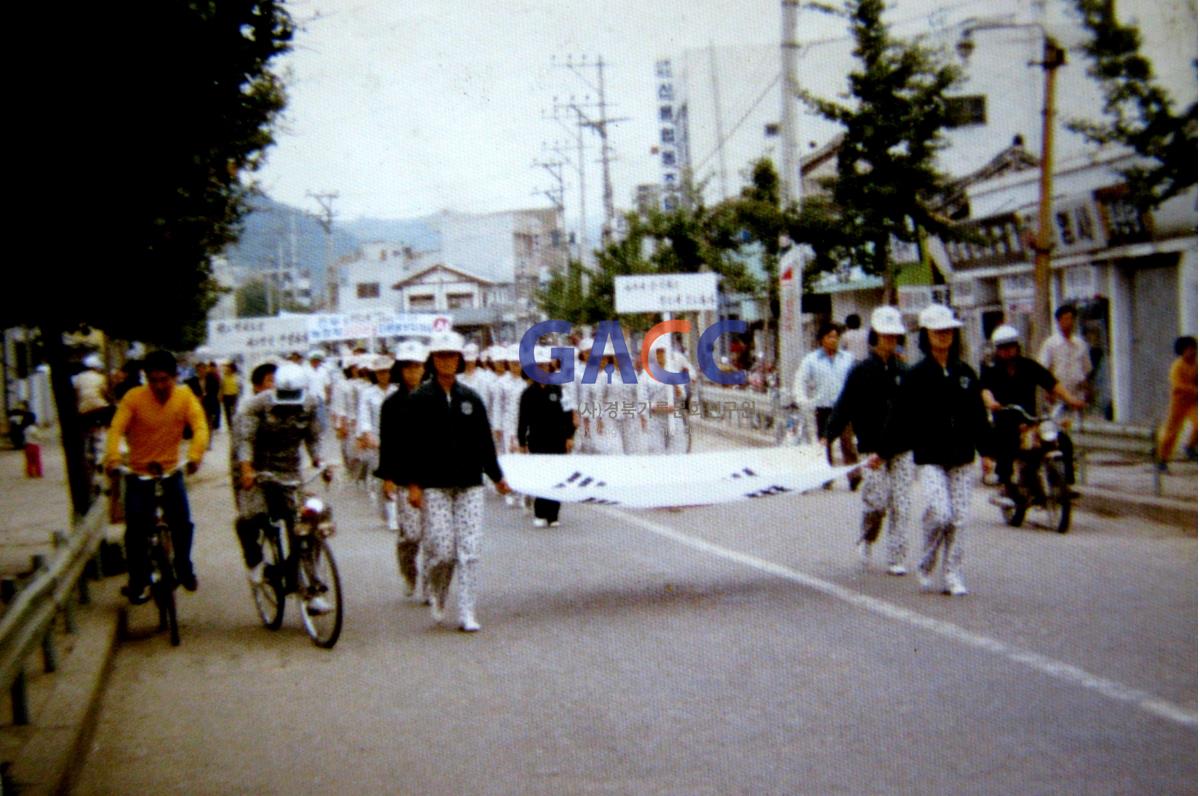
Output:
[[908,514],[912,502],[912,444],[898,424],[896,409],[905,377],[905,366],[896,357],[905,327],[900,311],[877,307],[871,313],[866,336],[869,353],[846,377],[846,385],[826,426],[824,443],[853,426],[858,450],[869,454],[863,467],[863,523],[858,552],[866,567],[871,546],[888,520],[888,574],[908,571]]

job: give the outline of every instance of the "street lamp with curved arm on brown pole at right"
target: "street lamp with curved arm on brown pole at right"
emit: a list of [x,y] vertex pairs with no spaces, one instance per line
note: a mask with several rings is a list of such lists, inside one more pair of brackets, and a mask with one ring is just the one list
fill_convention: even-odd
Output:
[[966,61],[974,52],[972,34],[989,29],[1034,28],[1042,35],[1042,60],[1030,66],[1040,66],[1045,73],[1042,94],[1042,162],[1038,180],[1038,231],[1033,244],[1033,316],[1030,323],[1030,347],[1037,349],[1050,330],[1050,251],[1054,247],[1051,232],[1051,201],[1054,199],[1054,114],[1055,74],[1067,64],[1067,50],[1040,23],[980,23],[966,26],[959,38],[956,50]]

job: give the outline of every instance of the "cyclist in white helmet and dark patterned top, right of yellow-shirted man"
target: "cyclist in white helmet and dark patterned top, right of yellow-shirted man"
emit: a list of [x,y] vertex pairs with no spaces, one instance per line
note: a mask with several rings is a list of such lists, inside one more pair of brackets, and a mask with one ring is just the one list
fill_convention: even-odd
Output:
[[[274,389],[250,399],[238,413],[236,462],[241,478],[238,511],[238,539],[241,541],[251,583],[263,582],[263,547],[259,531],[275,513],[292,516],[294,505],[276,507],[268,501],[293,499],[288,490],[272,490],[258,483],[257,473],[268,472],[282,480],[300,479],[300,445],[308,449],[313,467],[320,467],[320,421],[317,397],[308,390],[308,373],[288,363],[275,371]],[[264,491],[264,486],[266,491]],[[290,528],[289,528],[290,531]],[[322,598],[317,598],[322,600]],[[311,608],[320,609],[314,602]]]

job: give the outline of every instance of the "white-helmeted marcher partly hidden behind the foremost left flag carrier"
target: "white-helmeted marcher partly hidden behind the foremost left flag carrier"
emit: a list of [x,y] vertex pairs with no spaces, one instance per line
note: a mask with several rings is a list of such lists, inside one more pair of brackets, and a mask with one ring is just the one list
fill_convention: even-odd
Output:
[[415,340],[396,347],[396,389],[384,400],[379,412],[379,467],[376,475],[383,479],[383,492],[388,515],[388,527],[398,532],[396,559],[404,581],[404,595],[421,593],[420,551],[425,539],[425,521],[421,511],[407,499],[408,483],[406,462],[416,455],[413,448],[413,430],[409,425],[409,397],[421,385],[428,348]]

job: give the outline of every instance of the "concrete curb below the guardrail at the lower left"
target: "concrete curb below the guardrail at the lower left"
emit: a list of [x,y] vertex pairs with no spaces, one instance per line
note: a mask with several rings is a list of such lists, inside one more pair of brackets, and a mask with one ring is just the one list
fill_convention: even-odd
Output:
[[53,689],[32,716],[32,731],[8,771],[17,792],[68,794],[88,759],[116,651],[120,580],[89,585],[91,605],[76,612],[74,647],[49,675]]

